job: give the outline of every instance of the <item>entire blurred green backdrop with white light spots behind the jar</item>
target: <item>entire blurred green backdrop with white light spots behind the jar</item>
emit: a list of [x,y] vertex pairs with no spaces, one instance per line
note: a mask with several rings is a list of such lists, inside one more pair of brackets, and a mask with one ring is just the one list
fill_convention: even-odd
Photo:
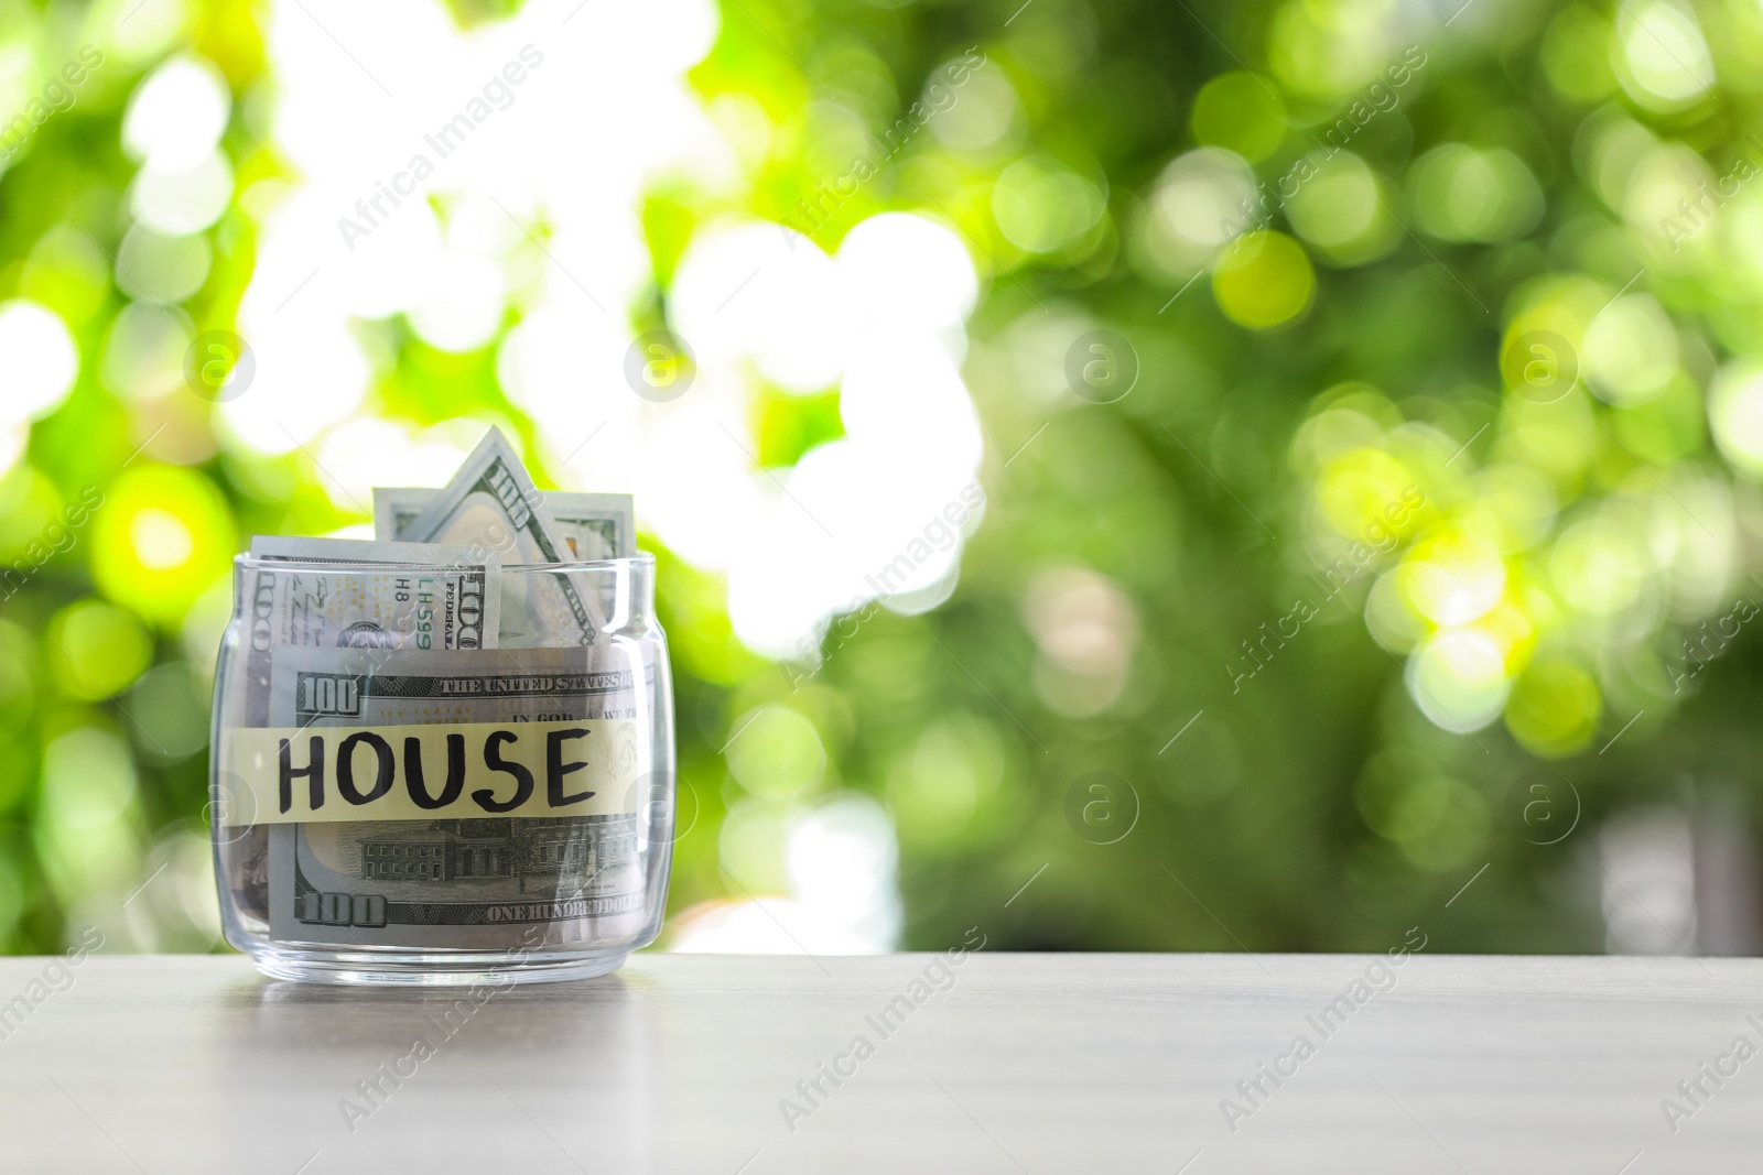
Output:
[[227,560],[488,423],[661,560],[665,944],[1758,950],[1749,0],[0,2],[0,120],[9,951],[222,950]]

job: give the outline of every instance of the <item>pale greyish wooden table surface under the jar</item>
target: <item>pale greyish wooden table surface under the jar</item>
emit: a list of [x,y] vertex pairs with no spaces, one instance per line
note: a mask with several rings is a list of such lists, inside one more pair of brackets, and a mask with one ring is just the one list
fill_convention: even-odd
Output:
[[0,1173],[1759,1170],[1763,960],[1379,958],[638,955],[481,1004],[7,958]]

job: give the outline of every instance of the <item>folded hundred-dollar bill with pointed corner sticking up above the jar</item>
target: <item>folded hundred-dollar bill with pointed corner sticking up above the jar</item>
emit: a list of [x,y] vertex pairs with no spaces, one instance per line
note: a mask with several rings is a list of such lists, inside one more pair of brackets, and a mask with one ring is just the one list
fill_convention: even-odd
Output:
[[[504,564],[562,564],[569,544],[539,509],[539,491],[499,428],[404,528],[413,543],[487,543]],[[504,645],[592,645],[606,624],[599,602],[568,574],[525,576],[502,597]]]

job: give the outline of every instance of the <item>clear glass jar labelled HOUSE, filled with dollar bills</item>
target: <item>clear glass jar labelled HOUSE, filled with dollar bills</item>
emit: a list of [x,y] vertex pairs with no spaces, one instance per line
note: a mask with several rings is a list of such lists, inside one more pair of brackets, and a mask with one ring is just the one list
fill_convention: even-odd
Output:
[[233,585],[210,803],[220,920],[259,971],[578,979],[654,941],[673,692],[652,557],[242,555]]

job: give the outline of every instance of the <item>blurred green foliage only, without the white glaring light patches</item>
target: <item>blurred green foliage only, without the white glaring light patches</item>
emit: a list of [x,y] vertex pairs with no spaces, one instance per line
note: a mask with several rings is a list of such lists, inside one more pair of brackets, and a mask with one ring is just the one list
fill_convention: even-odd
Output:
[[[508,11],[453,5],[474,26]],[[55,12],[0,25],[30,62],[0,116],[81,41]],[[0,303],[46,307],[79,352],[71,395],[0,433],[12,951],[199,860],[227,558],[252,532],[365,520],[310,451],[256,454],[190,389],[104,373],[145,301],[116,261],[125,102],[187,46],[231,90],[236,183],[183,312],[227,328],[250,282],[263,210],[242,194],[268,206],[293,174],[250,12],[106,41],[0,173]],[[666,324],[718,220],[825,250],[880,211],[952,224],[982,278],[963,375],[989,504],[952,599],[836,622],[813,673],[748,650],[723,580],[661,551],[691,793],[673,909],[739,897],[726,854],[852,789],[894,817],[913,948],[982,923],[1010,948],[1380,950],[1425,923],[1437,950],[1596,950],[1573,879],[1597,823],[1682,802],[1682,780],[1749,780],[1756,754],[1756,638],[1682,645],[1759,592],[1758,12],[723,5],[689,81],[742,180],[652,181],[629,211],[654,284],[615,310]],[[940,70],[970,48],[986,63],[954,85]],[[816,196],[936,85],[950,102],[873,176]],[[534,233],[525,273],[555,261]],[[504,395],[495,345],[354,328],[361,416],[502,419],[536,469],[562,456]],[[1137,365],[1107,403],[1068,375],[1095,329]],[[844,435],[836,389],[749,393],[762,467]],[[1541,765],[1583,803],[1562,844],[1513,817]],[[1134,816],[1109,844],[1068,817],[1095,772]],[[143,902],[138,944],[215,942],[201,898]]]

